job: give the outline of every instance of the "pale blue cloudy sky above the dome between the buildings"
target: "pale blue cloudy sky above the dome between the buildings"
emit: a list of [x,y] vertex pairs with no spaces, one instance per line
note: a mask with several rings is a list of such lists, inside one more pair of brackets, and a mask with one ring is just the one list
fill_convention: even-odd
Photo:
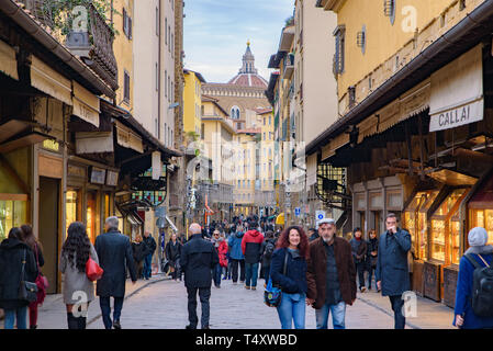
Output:
[[250,39],[258,72],[269,80],[270,55],[278,49],[294,0],[186,0],[184,67],[208,82],[227,82],[242,67]]

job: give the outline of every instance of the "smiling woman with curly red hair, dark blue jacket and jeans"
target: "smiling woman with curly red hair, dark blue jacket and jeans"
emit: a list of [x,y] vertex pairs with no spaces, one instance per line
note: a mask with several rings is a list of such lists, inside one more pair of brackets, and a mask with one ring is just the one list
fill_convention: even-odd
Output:
[[282,299],[277,307],[281,327],[292,329],[294,321],[295,329],[304,329],[309,238],[301,227],[292,226],[282,231],[277,248],[272,254],[270,276],[272,284],[282,291]]

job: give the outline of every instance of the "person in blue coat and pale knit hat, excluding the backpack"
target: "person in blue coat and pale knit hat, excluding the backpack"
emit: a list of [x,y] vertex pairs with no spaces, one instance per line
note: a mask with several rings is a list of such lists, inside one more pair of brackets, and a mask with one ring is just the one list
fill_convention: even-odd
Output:
[[486,245],[488,231],[480,227],[469,231],[468,241],[470,248],[459,262],[453,326],[463,329],[493,328],[493,317],[480,317],[474,315],[472,310],[471,296],[474,267],[466,258],[466,254],[471,254],[481,267],[485,267],[483,260],[491,265],[493,261],[493,246]]

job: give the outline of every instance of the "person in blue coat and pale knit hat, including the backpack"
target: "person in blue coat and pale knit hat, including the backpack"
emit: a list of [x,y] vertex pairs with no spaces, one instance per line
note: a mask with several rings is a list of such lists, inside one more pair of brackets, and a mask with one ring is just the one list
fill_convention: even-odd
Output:
[[486,245],[488,231],[469,231],[470,248],[459,262],[456,307],[452,325],[462,329],[493,328],[493,246]]

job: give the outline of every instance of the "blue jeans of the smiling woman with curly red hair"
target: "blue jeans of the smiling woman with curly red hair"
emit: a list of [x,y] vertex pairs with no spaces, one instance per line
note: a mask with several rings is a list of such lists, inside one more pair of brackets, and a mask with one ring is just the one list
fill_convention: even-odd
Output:
[[282,329],[305,328],[305,294],[282,293],[281,304],[277,307]]

